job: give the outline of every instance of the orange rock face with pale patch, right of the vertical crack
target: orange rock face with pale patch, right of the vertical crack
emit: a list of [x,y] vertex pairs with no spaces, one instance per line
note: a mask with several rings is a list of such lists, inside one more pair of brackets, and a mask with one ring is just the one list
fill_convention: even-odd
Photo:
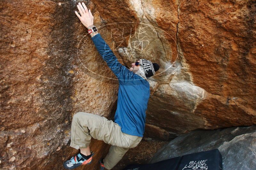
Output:
[[[178,134],[255,124],[255,3],[177,3],[177,71],[168,84],[155,80],[148,123]],[[166,15],[156,23],[168,31]]]

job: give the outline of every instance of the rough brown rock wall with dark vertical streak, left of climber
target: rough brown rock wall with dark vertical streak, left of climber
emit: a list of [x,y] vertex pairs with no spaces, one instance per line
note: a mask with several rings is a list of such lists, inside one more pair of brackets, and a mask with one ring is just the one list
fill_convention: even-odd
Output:
[[[1,2],[1,169],[62,169],[76,152],[69,147],[72,115],[107,117],[114,107],[117,81],[103,76],[115,75],[84,43],[75,9],[73,1]],[[94,18],[102,24],[96,10]],[[108,152],[104,142],[92,143],[93,151]]]

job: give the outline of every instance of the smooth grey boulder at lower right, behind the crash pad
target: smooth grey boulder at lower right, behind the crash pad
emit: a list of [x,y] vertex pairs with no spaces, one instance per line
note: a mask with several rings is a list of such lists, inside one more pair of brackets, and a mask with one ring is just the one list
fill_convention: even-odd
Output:
[[256,126],[191,131],[164,145],[149,162],[212,149],[219,149],[223,170],[255,169]]

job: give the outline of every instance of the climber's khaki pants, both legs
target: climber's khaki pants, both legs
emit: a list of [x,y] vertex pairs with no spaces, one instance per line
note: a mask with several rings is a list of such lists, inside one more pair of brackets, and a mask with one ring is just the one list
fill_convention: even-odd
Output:
[[71,125],[70,146],[75,149],[87,147],[91,138],[103,140],[111,145],[108,155],[103,159],[106,169],[112,169],[129,148],[136,147],[142,139],[139,136],[123,133],[117,123],[106,117],[85,112],[76,113]]

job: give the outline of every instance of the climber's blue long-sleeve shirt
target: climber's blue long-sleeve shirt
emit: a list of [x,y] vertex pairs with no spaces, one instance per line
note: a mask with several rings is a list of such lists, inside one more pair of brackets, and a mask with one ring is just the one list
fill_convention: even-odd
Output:
[[92,41],[119,81],[114,122],[122,132],[143,137],[150,95],[148,81],[123,66],[99,33],[92,37]]

